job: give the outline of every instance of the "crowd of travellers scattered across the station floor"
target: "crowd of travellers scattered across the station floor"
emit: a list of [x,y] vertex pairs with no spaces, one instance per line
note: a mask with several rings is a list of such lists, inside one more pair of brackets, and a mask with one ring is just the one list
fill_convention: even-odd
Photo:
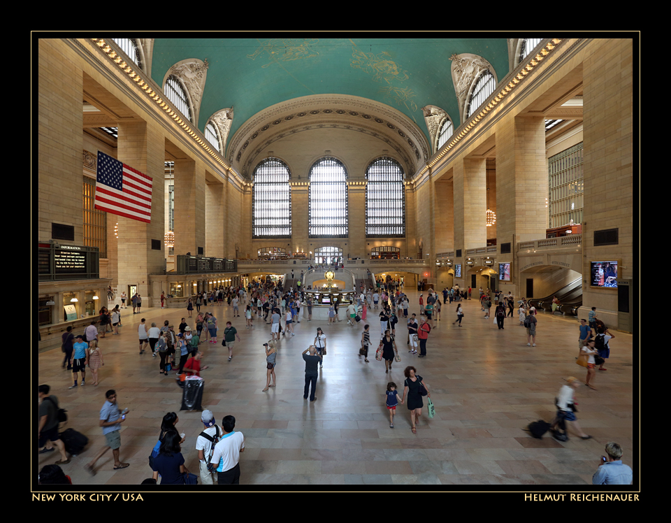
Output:
[[[302,275],[301,275],[302,278]],[[464,317],[463,300],[470,299],[472,289],[461,291],[455,286],[452,289],[445,288],[442,291],[442,301],[438,293],[433,289],[419,294],[419,320],[417,314],[410,313],[410,299],[403,292],[403,286],[399,282],[377,281],[376,285],[371,285],[368,289],[361,289],[361,293],[356,296],[353,303],[347,307],[347,320],[349,325],[356,326],[361,322],[363,331],[361,333],[361,348],[359,357],[363,356],[364,361],[369,363],[368,351],[375,348],[375,336],[370,331],[370,325],[365,322],[370,313],[378,314],[380,320],[380,340],[375,350],[375,359],[384,360],[385,373],[391,373],[392,366],[401,361],[398,354],[398,336],[397,334],[399,318],[407,327],[407,350],[411,356],[417,355],[419,358],[427,356],[428,338],[436,323],[440,321],[440,310],[442,306],[452,306],[456,302],[454,313],[456,320],[453,324],[462,327]],[[177,376],[196,375],[204,371],[207,366],[201,365],[203,352],[199,346],[203,343],[218,343],[217,335],[219,333],[219,322],[212,308],[215,304],[223,305],[223,302],[232,306],[233,317],[240,316],[240,308],[244,307],[244,315],[247,329],[257,329],[257,324],[264,322],[270,325],[270,340],[264,344],[266,354],[266,385],[263,392],[267,392],[271,387],[276,387],[277,376],[275,366],[277,365],[278,348],[280,342],[287,336],[295,336],[294,324],[300,323],[299,315],[301,307],[307,309],[307,321],[312,321],[312,303],[310,296],[305,296],[298,289],[289,288],[286,291],[282,289],[281,280],[277,283],[270,280],[252,281],[247,287],[221,287],[213,292],[199,293],[194,299],[189,299],[187,303],[187,317],[182,317],[177,331],[170,320],[165,320],[162,327],[157,327],[156,323],[147,326],[145,319],[140,320],[138,325],[139,355],[145,352],[151,352],[152,357],[159,361],[159,373],[168,375],[171,371]],[[139,301],[132,301],[134,312],[139,311]],[[479,289],[479,301],[481,311],[485,313],[484,318],[489,319],[489,311],[494,306],[494,323],[498,329],[503,329],[506,317],[512,317],[515,306],[515,300],[510,293],[504,296],[500,292],[491,292],[489,289]],[[161,304],[164,300],[161,300]],[[210,305],[208,312],[201,312],[201,307]],[[123,302],[122,302],[123,305]],[[193,306],[196,307],[196,319],[192,326],[189,326],[189,318]],[[535,327],[537,324],[537,311],[530,306],[526,299],[517,301],[519,324],[526,328],[527,345],[535,347]],[[65,353],[63,366],[73,373],[73,385],[82,387],[85,385],[86,368],[92,373],[89,378],[90,385],[98,385],[99,369],[104,366],[105,361],[99,340],[103,338],[107,331],[118,334],[118,327],[121,326],[120,308],[116,306],[110,312],[102,308],[97,321],[85,329],[85,334],[73,336],[72,328],[68,327],[63,334],[63,351]],[[284,322],[282,322],[284,318]],[[333,303],[329,307],[329,324],[340,322],[338,317],[338,303]],[[256,322],[256,323],[254,323]],[[282,324],[283,323],[283,324]],[[600,371],[606,371],[603,366],[604,360],[609,357],[609,340],[614,335],[605,328],[603,322],[598,320],[596,308],[593,308],[588,320],[581,320],[579,329],[579,356],[577,359],[585,359],[587,375],[585,385],[591,389],[593,386],[593,377],[598,366]],[[405,329],[404,329],[405,333]],[[233,359],[233,350],[236,343],[242,340],[238,331],[233,327],[230,321],[226,322],[223,330],[222,345],[226,346],[229,357],[228,361]],[[305,361],[305,388],[303,398],[310,402],[317,401],[316,387],[319,371],[324,367],[324,357],[327,354],[328,347],[327,336],[322,327],[316,329],[315,338],[308,348],[303,351],[302,357]],[[419,351],[418,351],[419,348]],[[81,380],[78,383],[78,375],[81,374]],[[398,389],[394,381],[389,381],[387,385],[386,407],[389,412],[389,427],[394,428],[394,415],[396,406],[400,401],[401,405],[406,405],[410,413],[410,428],[413,434],[417,434],[417,426],[424,408],[423,398],[427,397],[431,402],[431,392],[428,385],[424,382],[421,375],[417,373],[417,368],[412,365],[406,365],[403,371],[404,382],[403,392]],[[575,392],[579,387],[579,380],[576,378],[567,378],[567,385],[561,388],[556,402],[556,417],[551,423],[551,434],[558,440],[568,439],[565,422],[571,422],[574,430],[582,439],[589,439],[591,436],[585,434],[575,417]],[[57,413],[59,410],[58,401],[55,396],[50,396],[50,389],[47,385],[41,385],[39,390],[40,406],[40,452],[52,452],[58,449],[61,459],[54,466],[68,464],[70,458],[67,455],[64,444],[58,437]],[[120,459],[121,437],[120,429],[122,423],[126,420],[128,409],[121,410],[117,404],[117,394],[115,390],[110,389],[105,394],[106,401],[101,408],[100,427],[106,438],[106,445],[94,456],[94,458],[85,465],[85,469],[94,475],[96,473],[96,463],[108,450],[113,451],[114,470],[119,470],[129,466]],[[431,408],[433,406],[431,405]],[[185,443],[184,434],[179,434],[175,425],[179,418],[175,413],[168,413],[161,424],[161,431],[157,445],[152,450],[150,462],[152,466],[152,478],[147,478],[147,483],[156,483],[160,480],[161,484],[183,484],[196,482],[195,475],[190,473],[185,467],[185,459],[182,455],[182,444]],[[196,451],[199,455],[199,478],[203,484],[231,484],[238,483],[240,480],[239,456],[244,452],[244,437],[241,433],[234,431],[235,418],[226,416],[222,420],[221,427],[216,424],[215,416],[210,410],[204,410],[201,421],[203,422],[203,432],[196,441]],[[595,473],[595,481],[606,483],[619,481],[628,478],[631,481],[631,471],[625,465],[621,464],[621,448],[615,443],[609,443],[606,447],[607,458],[603,457],[600,468]],[[58,480],[69,480],[69,478],[58,471],[54,466],[47,466],[41,471],[41,480],[44,483],[55,482]],[[628,469],[628,473],[627,473]],[[627,475],[628,474],[628,475]]]

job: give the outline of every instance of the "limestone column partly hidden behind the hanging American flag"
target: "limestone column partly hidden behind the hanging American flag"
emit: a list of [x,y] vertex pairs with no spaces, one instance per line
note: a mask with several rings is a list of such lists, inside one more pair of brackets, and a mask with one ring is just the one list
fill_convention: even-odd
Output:
[[153,179],[150,223],[111,215],[119,224],[118,291],[128,293],[128,285],[138,285],[143,306],[151,307],[159,296],[150,296],[148,275],[163,273],[165,265],[165,138],[158,127],[145,122],[122,122],[118,132],[117,159]]

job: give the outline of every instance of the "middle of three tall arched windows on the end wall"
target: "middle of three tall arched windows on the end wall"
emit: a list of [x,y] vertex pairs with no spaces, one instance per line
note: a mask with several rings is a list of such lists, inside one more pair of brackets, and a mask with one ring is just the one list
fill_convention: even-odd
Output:
[[335,158],[322,158],[310,169],[310,238],[347,238],[347,171]]

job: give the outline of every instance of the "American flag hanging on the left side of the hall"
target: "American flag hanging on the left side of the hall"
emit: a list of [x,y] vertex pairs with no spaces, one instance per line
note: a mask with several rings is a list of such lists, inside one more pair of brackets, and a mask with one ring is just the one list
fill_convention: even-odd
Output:
[[98,151],[96,209],[138,220],[152,220],[152,178]]

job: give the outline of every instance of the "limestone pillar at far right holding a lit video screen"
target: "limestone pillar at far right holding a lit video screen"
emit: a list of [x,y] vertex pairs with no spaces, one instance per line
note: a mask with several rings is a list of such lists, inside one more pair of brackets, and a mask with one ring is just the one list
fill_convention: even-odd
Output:
[[[583,62],[584,210],[583,307],[610,328],[619,325],[616,289],[590,286],[590,261],[618,261],[617,276],[635,280],[633,248],[633,45],[612,38]],[[616,229],[610,245],[594,245],[595,231]],[[637,293],[637,287],[630,292]],[[634,294],[636,295],[636,294]],[[629,313],[631,314],[631,312]],[[626,319],[626,313],[621,320]],[[633,324],[635,325],[635,317]],[[626,327],[626,323],[623,324]],[[636,329],[636,327],[633,327]]]

